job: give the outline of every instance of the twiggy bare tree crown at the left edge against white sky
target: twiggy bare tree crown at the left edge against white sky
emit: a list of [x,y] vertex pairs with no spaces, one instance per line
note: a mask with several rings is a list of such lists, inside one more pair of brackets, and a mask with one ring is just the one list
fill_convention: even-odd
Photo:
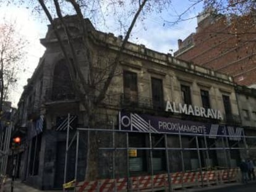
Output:
[[2,111],[2,103],[17,82],[17,72],[25,59],[28,41],[19,34],[15,22],[2,23],[0,33],[0,111]]

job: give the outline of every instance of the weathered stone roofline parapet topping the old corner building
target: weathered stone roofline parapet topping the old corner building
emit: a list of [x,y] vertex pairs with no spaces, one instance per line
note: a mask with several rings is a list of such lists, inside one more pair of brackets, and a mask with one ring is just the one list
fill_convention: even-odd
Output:
[[[88,30],[88,33],[91,42],[96,46],[105,47],[115,52],[119,51],[122,44],[122,38],[120,36],[116,37],[113,33],[103,33],[92,28],[91,30]],[[77,36],[77,38],[80,38],[80,36]],[[41,40],[41,42],[46,44],[57,43],[56,40],[46,39]],[[153,51],[145,48],[143,44],[138,45],[127,42],[123,51],[123,55],[125,54],[147,62],[153,62],[153,64],[158,64],[166,68],[181,70],[182,72],[192,73],[203,78],[210,78],[211,80],[219,81],[221,83],[234,85],[233,77],[229,75],[224,75],[223,73],[215,72],[214,70],[182,61],[181,59],[176,59],[171,56],[171,54],[163,54],[161,52]]]

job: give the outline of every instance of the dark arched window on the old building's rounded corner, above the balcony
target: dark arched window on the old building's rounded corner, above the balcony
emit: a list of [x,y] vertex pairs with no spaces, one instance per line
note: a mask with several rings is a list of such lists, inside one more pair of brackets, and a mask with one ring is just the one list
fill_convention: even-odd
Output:
[[60,61],[54,67],[52,99],[74,99],[72,81],[65,61]]

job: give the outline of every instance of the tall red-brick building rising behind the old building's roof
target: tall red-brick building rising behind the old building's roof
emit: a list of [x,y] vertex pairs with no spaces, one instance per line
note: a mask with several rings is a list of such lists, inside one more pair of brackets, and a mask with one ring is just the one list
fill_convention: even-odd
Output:
[[231,75],[239,85],[255,87],[255,26],[244,24],[249,19],[235,20],[234,26],[224,15],[203,12],[197,17],[196,32],[178,40],[174,56]]

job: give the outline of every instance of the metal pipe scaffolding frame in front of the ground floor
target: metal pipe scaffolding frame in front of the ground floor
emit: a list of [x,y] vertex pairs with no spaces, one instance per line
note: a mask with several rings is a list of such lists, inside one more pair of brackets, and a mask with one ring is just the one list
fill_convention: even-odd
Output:
[[[68,115],[68,122],[67,122],[67,138],[66,138],[66,159],[65,159],[65,167],[64,167],[64,183],[67,183],[69,181],[67,181],[67,156],[68,156],[68,152],[69,152],[69,148],[72,145],[72,143],[74,143],[76,141],[76,150],[75,150],[75,176],[74,176],[74,181],[77,181],[77,165],[78,165],[78,154],[79,154],[79,135],[80,132],[84,132],[87,131],[88,135],[90,134],[91,131],[98,131],[98,133],[112,133],[112,146],[111,147],[101,147],[98,148],[99,151],[111,151],[113,154],[113,158],[112,158],[112,165],[113,165],[113,170],[112,170],[112,175],[111,175],[111,179],[116,179],[116,152],[117,151],[126,151],[126,178],[127,178],[127,191],[129,191],[129,178],[130,178],[130,170],[129,170],[129,151],[132,149],[135,149],[137,151],[139,150],[145,150],[145,151],[149,151],[150,154],[150,175],[151,178],[153,178],[152,176],[154,175],[154,170],[153,170],[153,151],[155,150],[162,150],[165,152],[165,162],[166,162],[166,172],[168,173],[168,191],[173,191],[173,187],[172,187],[172,181],[171,181],[171,177],[170,177],[170,173],[172,173],[173,171],[170,169],[170,162],[169,162],[169,154],[171,154],[172,151],[178,151],[180,153],[181,156],[181,167],[182,167],[182,173],[186,172],[185,169],[185,163],[184,163],[184,152],[187,151],[195,151],[195,153],[197,154],[197,159],[198,159],[198,171],[201,175],[201,177],[203,176],[203,170],[206,169],[210,169],[210,157],[209,157],[209,152],[210,151],[223,151],[224,154],[224,163],[225,166],[223,167],[224,169],[231,169],[231,152],[234,150],[239,150],[240,153],[243,153],[243,157],[248,158],[249,157],[249,151],[253,151],[256,149],[256,147],[254,146],[254,144],[256,144],[256,136],[246,136],[244,133],[244,129],[242,130],[242,135],[241,136],[230,136],[230,135],[211,135],[213,138],[216,138],[214,143],[208,143],[207,140],[207,136],[205,134],[190,134],[190,133],[181,133],[181,131],[179,131],[179,133],[156,133],[154,131],[151,130],[150,127],[148,127],[148,131],[147,132],[143,132],[143,134],[148,135],[149,138],[149,147],[132,147],[129,144],[129,133],[141,133],[140,131],[129,131],[129,130],[121,130],[121,129],[116,129],[114,126],[114,121],[113,121],[113,126],[112,128],[89,128],[89,127],[78,127],[75,130],[75,134],[72,138],[69,138],[69,117],[70,115]],[[116,144],[116,135],[117,134],[122,134],[125,135],[126,138],[126,146],[125,147],[117,147]],[[164,140],[164,147],[155,147],[152,144],[152,134],[159,134],[160,135],[160,139],[158,141],[156,141],[155,146],[157,145],[157,143],[159,143],[161,140]],[[177,136],[177,138],[179,138],[179,147],[169,147],[168,146],[168,136]],[[182,143],[182,138],[186,137],[186,138],[190,138],[189,142],[195,142],[196,147],[195,148],[185,148],[183,143]],[[230,145],[229,144],[229,140],[234,140],[232,138],[236,138],[235,142]],[[89,139],[89,138],[88,138]],[[247,144],[247,140],[250,139],[253,142],[252,146],[248,146]],[[204,146],[201,147],[198,140],[203,141]],[[215,146],[215,144],[217,142],[221,143],[221,146],[218,147],[213,147]],[[203,167],[202,166],[202,154],[201,151],[205,152],[206,154],[206,166]],[[207,178],[208,180],[208,178]],[[202,186],[206,185],[206,183],[204,183],[203,180],[201,180],[201,184]],[[183,180],[182,180],[182,186],[183,186]],[[63,188],[63,191],[65,191],[65,188]],[[75,188],[74,188],[75,191]],[[116,190],[116,184],[114,185],[114,191]],[[153,190],[153,187],[151,189],[151,191]]]

